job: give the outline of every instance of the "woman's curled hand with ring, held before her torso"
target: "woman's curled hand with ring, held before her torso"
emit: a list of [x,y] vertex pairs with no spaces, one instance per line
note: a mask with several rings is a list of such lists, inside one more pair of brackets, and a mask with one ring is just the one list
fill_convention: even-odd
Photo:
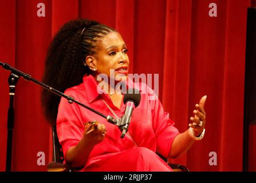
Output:
[[107,133],[106,130],[106,126],[97,121],[86,122],[84,137],[86,140],[96,145],[104,140],[105,134]]

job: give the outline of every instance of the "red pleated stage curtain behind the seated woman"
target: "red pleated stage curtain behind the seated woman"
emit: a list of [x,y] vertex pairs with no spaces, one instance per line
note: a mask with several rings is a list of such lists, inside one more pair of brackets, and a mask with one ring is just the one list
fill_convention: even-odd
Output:
[[[45,17],[38,17],[38,3]],[[217,17],[210,17],[210,3]],[[41,81],[46,50],[67,21],[95,19],[117,29],[128,45],[130,73],[159,74],[159,97],[180,132],[207,94],[206,135],[172,162],[191,171],[242,171],[247,7],[253,0],[1,0],[0,61]],[[5,171],[9,71],[0,69],[0,171]],[[41,87],[19,79],[15,95],[13,170],[46,171],[52,156]],[[250,137],[255,137],[255,125]],[[256,170],[250,141],[250,170]],[[38,165],[38,152],[45,165]],[[210,152],[217,164],[210,165]]]

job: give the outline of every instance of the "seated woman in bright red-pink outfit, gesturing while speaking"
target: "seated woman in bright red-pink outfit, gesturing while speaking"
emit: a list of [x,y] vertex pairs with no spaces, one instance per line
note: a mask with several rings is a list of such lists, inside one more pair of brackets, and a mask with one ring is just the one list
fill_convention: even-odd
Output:
[[[46,58],[43,82],[74,97],[105,115],[124,114],[123,93],[115,92],[120,81],[129,86],[129,58],[121,35],[111,27],[88,19],[66,23],[56,34]],[[118,77],[114,85],[109,82]],[[107,75],[101,81],[99,75]],[[121,76],[120,76],[121,75]],[[100,87],[103,86],[107,87]],[[132,83],[133,84],[133,83]],[[164,157],[179,157],[204,134],[206,96],[195,105],[190,129],[179,133],[144,83],[136,83],[141,101],[135,108],[129,129],[120,138],[120,129],[77,104],[48,91],[42,104],[49,121],[56,122],[65,161],[82,171],[172,171]],[[114,92],[113,92],[114,91]]]

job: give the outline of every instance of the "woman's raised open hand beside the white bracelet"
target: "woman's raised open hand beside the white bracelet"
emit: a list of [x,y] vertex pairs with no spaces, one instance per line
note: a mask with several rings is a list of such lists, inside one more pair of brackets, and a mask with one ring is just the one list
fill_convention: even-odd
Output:
[[206,103],[207,96],[203,96],[199,102],[199,104],[195,105],[195,110],[193,113],[194,117],[190,117],[192,124],[188,124],[191,128],[193,128],[194,134],[196,137],[200,136],[203,132],[204,126],[206,125],[206,112],[204,111],[204,104]]

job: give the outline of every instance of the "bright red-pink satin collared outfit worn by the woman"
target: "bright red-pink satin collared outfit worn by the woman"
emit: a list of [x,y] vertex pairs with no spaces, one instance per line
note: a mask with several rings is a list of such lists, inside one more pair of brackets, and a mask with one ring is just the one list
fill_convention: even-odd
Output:
[[[106,126],[107,134],[102,142],[94,146],[83,171],[172,171],[155,152],[168,157],[172,142],[179,134],[178,129],[174,127],[174,121],[170,120],[168,113],[164,112],[162,104],[152,89],[144,83],[138,85],[131,79],[127,81],[129,87],[133,84],[133,87],[141,93],[140,105],[133,110],[129,124],[128,132],[132,138],[128,134],[120,138],[121,132],[118,126],[80,105],[69,104],[65,98],[61,98],[57,116],[57,133],[64,157],[67,150],[81,140],[84,123],[97,120]],[[123,116],[125,110],[123,102],[119,110],[107,94],[99,94],[97,89],[100,90],[93,76],[85,75],[83,83],[67,89],[65,94],[106,116],[113,117],[102,101],[103,98],[118,117]]]

